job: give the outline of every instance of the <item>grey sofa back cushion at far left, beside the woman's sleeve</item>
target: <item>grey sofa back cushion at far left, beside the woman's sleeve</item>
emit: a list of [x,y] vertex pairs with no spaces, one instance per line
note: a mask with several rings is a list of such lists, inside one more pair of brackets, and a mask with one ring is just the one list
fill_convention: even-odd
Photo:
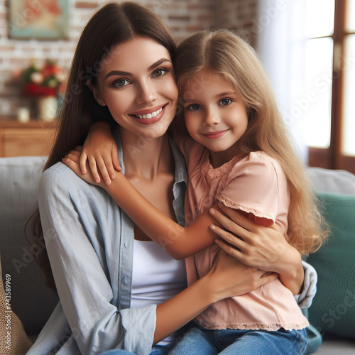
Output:
[[0,158],[0,245],[3,275],[11,275],[11,307],[28,335],[40,332],[58,302],[24,229],[37,207],[37,188],[45,157]]

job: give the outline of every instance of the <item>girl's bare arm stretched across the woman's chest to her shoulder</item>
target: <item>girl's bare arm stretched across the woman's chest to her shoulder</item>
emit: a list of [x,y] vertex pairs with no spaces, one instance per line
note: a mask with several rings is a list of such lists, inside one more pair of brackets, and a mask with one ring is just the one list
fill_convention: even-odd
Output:
[[[116,177],[110,185],[95,182],[89,172],[82,175],[78,165],[80,148],[77,149],[65,155],[62,162],[86,182],[99,185],[107,190],[133,222],[170,256],[175,259],[186,258],[214,243],[216,236],[209,229],[209,225],[216,221],[208,211],[189,226],[180,226],[146,200],[121,172],[116,172]],[[215,208],[218,207],[215,206]]]

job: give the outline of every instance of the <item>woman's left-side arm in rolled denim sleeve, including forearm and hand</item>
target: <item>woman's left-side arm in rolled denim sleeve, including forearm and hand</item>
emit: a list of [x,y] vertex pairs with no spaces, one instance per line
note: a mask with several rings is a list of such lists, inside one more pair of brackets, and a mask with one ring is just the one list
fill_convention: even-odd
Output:
[[123,293],[129,288],[121,282],[120,275],[126,271],[119,268],[119,260],[128,258],[129,253],[122,255],[119,243],[112,241],[121,228],[116,209],[106,208],[109,195],[87,185],[64,165],[43,173],[38,192],[60,303],[82,354],[96,355],[116,347],[148,354],[153,342],[192,320],[208,305],[248,293],[276,277],[262,277],[263,271],[228,256],[205,278],[158,307],[119,310],[116,305],[122,301],[117,297],[126,297]]

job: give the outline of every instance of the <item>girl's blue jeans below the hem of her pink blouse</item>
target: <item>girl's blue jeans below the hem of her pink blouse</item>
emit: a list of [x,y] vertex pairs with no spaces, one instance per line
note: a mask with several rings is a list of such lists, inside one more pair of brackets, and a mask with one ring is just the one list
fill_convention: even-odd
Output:
[[209,330],[195,324],[170,351],[170,355],[296,355],[305,354],[305,329]]

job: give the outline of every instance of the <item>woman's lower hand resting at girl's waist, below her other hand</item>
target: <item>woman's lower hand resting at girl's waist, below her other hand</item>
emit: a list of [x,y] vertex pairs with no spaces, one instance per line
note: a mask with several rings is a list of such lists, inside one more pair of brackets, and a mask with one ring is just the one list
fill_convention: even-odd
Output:
[[278,278],[277,273],[252,268],[220,250],[207,274],[214,292],[214,302],[224,298],[240,296]]

